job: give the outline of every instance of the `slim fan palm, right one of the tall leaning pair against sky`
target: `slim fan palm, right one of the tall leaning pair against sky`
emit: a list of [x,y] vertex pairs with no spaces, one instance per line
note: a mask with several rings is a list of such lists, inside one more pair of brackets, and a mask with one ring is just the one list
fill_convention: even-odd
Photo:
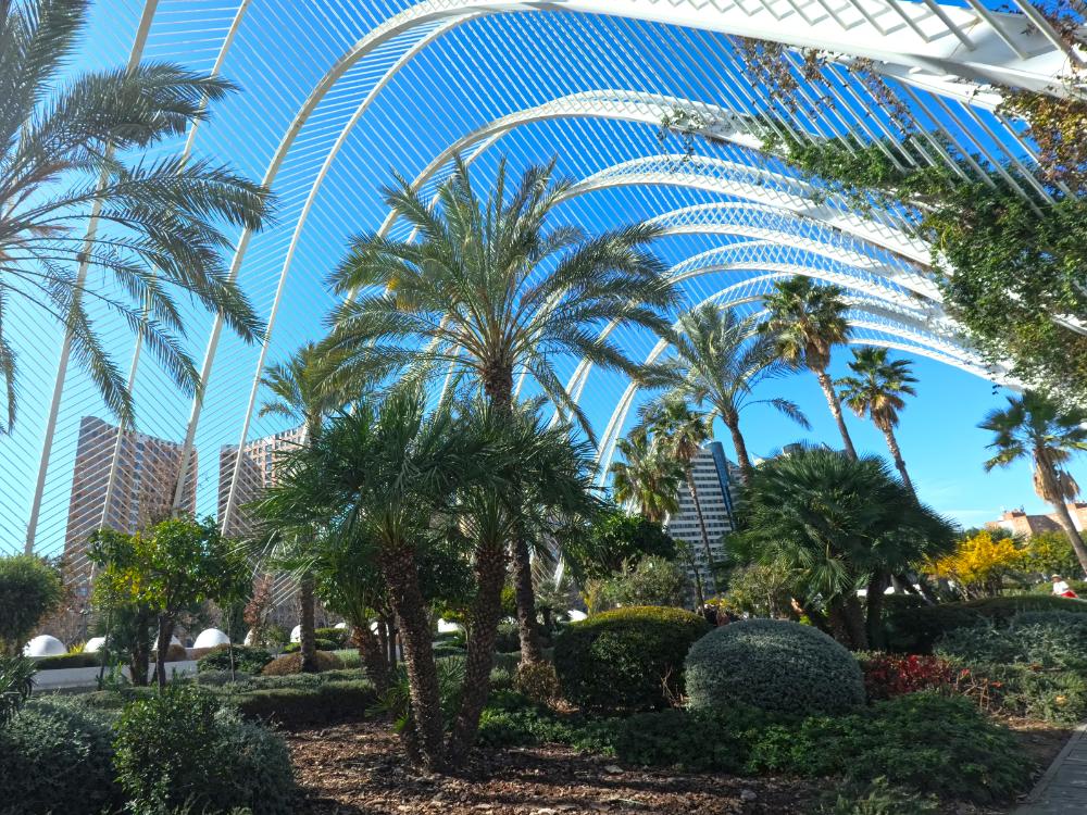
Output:
[[853,361],[849,363],[850,371],[855,376],[846,376],[837,381],[841,388],[840,398],[860,418],[865,414],[872,418],[872,424],[878,427],[887,440],[887,449],[895,460],[895,467],[902,476],[902,484],[916,492],[910,474],[902,461],[895,428],[898,426],[898,414],[905,406],[904,396],[916,396],[913,384],[917,381],[910,371],[908,360],[887,360],[886,348],[865,347],[853,349]]

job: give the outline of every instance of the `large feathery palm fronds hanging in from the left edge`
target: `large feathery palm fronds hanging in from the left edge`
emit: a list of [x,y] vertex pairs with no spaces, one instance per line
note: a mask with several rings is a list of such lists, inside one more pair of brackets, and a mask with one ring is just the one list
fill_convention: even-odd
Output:
[[[68,76],[86,20],[85,0],[0,7],[0,377],[9,431],[17,365],[3,309],[14,301],[64,327],[65,353],[75,353],[123,424],[133,422],[133,398],[92,311],[120,315],[189,393],[199,375],[183,344],[176,291],[246,341],[260,333],[221,252],[232,244],[224,226],[261,227],[267,190],[207,160],[143,158],[207,118],[209,103],[233,86],[165,63]],[[90,285],[92,272],[115,285]]]

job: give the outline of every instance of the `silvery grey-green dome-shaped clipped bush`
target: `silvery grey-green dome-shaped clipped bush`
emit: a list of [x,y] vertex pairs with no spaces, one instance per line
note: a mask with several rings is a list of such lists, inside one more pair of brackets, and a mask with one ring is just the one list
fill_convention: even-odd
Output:
[[740,702],[780,713],[841,713],[864,704],[861,666],[811,626],[748,619],[696,642],[686,663],[694,710]]

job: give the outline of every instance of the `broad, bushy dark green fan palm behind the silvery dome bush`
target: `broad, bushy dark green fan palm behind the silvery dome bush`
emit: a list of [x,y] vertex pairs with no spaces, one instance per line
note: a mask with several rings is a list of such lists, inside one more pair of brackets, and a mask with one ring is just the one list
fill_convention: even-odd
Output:
[[890,576],[950,551],[958,535],[877,456],[801,449],[760,466],[744,500],[747,524],[734,549],[796,572],[800,607],[853,649],[882,644]]

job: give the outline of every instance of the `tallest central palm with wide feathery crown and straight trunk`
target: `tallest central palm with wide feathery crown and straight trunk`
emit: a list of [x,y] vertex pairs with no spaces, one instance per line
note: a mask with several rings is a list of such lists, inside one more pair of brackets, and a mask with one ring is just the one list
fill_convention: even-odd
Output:
[[[591,431],[566,393],[555,362],[571,355],[637,379],[646,369],[599,328],[628,323],[667,335],[661,311],[676,300],[663,265],[648,251],[660,229],[628,226],[596,237],[550,224],[571,188],[554,161],[508,188],[505,162],[480,198],[458,159],[428,204],[403,178],[386,202],[414,227],[416,242],[374,235],[354,240],[332,277],[338,293],[360,292],[333,315],[327,347],[347,369],[408,369],[413,377],[467,377],[512,416],[514,376],[530,376],[557,406]],[[512,185],[511,185],[512,186]],[[511,419],[512,421],[512,419]],[[528,543],[512,541],[518,618],[535,620]],[[522,626],[522,657],[538,653],[534,626]]]

